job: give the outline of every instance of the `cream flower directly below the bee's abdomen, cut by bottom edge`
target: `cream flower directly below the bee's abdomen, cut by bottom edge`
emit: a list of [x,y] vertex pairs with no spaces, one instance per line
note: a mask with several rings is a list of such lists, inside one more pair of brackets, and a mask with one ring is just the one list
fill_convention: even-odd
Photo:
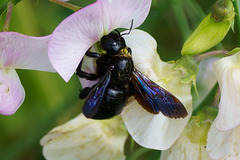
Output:
[[40,143],[47,160],[124,160],[127,137],[119,116],[96,121],[80,114],[51,130]]

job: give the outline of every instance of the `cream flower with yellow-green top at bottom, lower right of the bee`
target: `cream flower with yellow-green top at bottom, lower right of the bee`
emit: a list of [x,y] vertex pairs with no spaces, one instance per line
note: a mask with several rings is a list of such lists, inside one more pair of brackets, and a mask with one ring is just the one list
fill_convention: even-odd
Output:
[[206,139],[202,139],[207,138],[205,132],[209,125],[196,127],[196,124],[190,121],[174,145],[162,151],[160,160],[211,160],[205,146]]

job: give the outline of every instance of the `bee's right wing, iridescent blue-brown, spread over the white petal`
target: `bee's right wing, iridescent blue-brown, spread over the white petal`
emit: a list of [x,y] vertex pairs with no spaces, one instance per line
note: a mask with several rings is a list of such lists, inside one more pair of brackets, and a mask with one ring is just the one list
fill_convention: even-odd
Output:
[[144,76],[136,68],[133,71],[132,84],[138,103],[152,114],[162,112],[170,118],[184,118],[188,115],[183,104],[173,94]]

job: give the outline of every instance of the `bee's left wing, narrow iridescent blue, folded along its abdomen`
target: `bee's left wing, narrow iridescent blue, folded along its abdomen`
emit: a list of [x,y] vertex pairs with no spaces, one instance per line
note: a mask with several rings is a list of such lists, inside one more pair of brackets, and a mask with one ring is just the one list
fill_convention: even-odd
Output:
[[112,69],[109,69],[102,79],[95,85],[86,98],[83,106],[83,114],[92,118],[99,109],[105,90],[110,82]]

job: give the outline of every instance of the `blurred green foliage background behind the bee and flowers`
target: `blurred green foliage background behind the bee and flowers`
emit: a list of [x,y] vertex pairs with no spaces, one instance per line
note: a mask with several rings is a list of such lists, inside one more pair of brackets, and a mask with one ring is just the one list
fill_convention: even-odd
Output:
[[[6,0],[0,0],[0,5]],[[84,7],[93,0],[72,0]],[[150,33],[158,43],[158,52],[164,61],[177,60],[184,40],[201,19],[210,12],[215,0],[153,0],[151,11],[139,28]],[[13,7],[9,31],[31,36],[44,36],[73,11],[48,0],[21,0]],[[2,27],[5,13],[0,19]],[[238,45],[239,30],[230,31],[219,48],[231,50]],[[12,116],[0,115],[0,159],[40,160],[39,140],[54,126],[67,122],[81,112],[78,99],[81,87],[78,78],[65,83],[56,73],[18,70],[26,98]],[[158,151],[140,149],[144,159],[157,159]],[[133,152],[126,149],[129,159]],[[135,152],[136,157],[136,152]]]

